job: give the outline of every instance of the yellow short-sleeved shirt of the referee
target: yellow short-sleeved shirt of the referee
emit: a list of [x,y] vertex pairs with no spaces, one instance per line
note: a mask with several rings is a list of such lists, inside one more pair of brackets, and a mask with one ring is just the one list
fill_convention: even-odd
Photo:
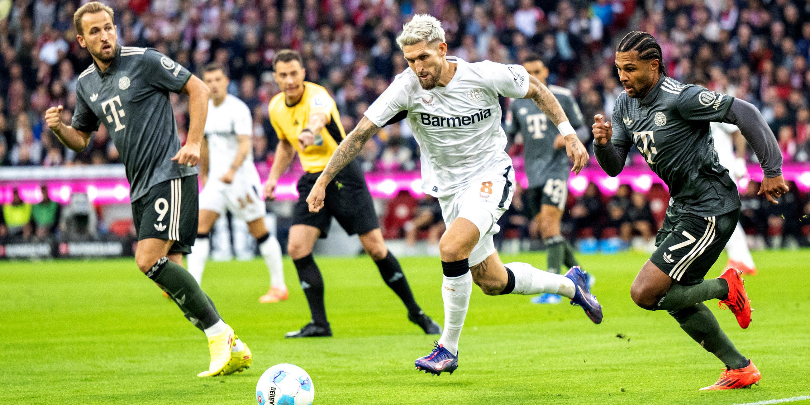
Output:
[[[287,105],[283,92],[276,94],[270,100],[267,112],[270,113],[275,134],[279,139],[292,143],[292,147],[298,151],[301,166],[307,173],[322,172],[338,144],[346,138],[335,100],[325,88],[315,83],[304,82],[304,94],[293,105]],[[309,116],[315,113],[325,114],[329,122],[320,134],[315,134],[315,143],[302,151],[298,144],[298,135],[309,124]]]

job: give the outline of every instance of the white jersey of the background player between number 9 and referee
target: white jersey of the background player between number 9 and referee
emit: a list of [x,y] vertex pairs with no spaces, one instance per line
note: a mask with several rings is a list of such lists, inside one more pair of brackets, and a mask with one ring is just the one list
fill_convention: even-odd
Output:
[[[247,104],[237,97],[225,96],[219,106],[208,100],[208,117],[205,122],[205,137],[208,140],[208,179],[218,180],[228,171],[237,157],[237,135],[253,136],[253,118]],[[248,152],[245,162],[237,170],[234,181],[258,181],[258,172],[253,162],[253,151]]]

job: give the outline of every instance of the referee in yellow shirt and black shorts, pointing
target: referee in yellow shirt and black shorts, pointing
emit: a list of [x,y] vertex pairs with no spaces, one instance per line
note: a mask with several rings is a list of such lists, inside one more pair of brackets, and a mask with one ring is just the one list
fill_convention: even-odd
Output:
[[371,193],[359,164],[352,164],[334,182],[330,182],[330,199],[326,210],[309,212],[305,198],[346,133],[335,100],[325,88],[304,81],[306,70],[303,66],[301,54],[294,50],[283,49],[275,54],[274,77],[282,92],[275,95],[268,105],[270,121],[279,136],[279,144],[275,148],[275,160],[264,187],[266,198],[275,199],[275,185],[296,156],[296,151],[306,172],[298,179],[300,196],[292,213],[287,251],[296,266],[312,320],[301,330],[289,332],[286,337],[332,335],[323,303],[323,279],[313,259],[312,248],[318,237],[326,237],[333,217],[349,235],[360,236],[363,249],[377,265],[382,279],[403,301],[407,318],[428,335],[441,333],[441,326],[416,304],[399,261],[382,240]]

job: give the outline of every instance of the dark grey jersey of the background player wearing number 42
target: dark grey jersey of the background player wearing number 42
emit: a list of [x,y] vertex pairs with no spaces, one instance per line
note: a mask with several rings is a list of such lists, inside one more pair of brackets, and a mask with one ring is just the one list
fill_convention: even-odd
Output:
[[[574,129],[585,125],[577,100],[573,98],[569,89],[549,85],[548,90],[560,101]],[[529,187],[543,187],[548,179],[568,179],[569,159],[565,147],[554,148],[554,139],[560,131],[534,100],[515,99],[509,104],[509,112],[506,113],[506,134],[509,138],[514,138],[518,133],[523,136],[523,156]]]

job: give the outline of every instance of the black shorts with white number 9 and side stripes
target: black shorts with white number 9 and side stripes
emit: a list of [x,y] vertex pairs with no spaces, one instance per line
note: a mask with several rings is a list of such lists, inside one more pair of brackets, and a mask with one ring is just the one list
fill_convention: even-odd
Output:
[[197,175],[153,185],[132,203],[138,240],[150,237],[174,241],[168,253],[190,254],[197,237]]

